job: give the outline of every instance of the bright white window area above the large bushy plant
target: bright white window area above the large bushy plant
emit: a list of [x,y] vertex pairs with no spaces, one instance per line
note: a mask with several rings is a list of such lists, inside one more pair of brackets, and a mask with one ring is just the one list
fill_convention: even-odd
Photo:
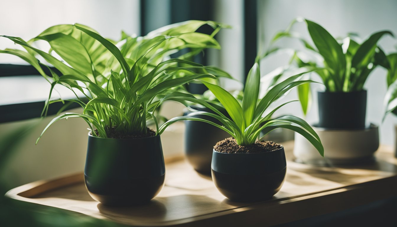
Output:
[[[1,0],[0,9],[0,35],[25,40],[57,24],[81,23],[111,39],[119,39],[121,30],[140,33],[139,0]],[[12,42],[0,38],[0,49],[5,48],[13,48]],[[24,62],[0,54],[0,63]]]

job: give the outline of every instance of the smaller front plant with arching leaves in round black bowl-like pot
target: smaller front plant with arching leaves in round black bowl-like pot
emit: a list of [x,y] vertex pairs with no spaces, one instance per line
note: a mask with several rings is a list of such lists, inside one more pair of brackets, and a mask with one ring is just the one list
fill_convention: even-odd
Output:
[[[272,114],[284,103],[268,113],[270,105],[287,91],[310,80],[296,81],[301,74],[291,76],[268,90],[258,100],[260,72],[259,64],[255,63],[245,83],[242,102],[222,87],[204,82],[222,104],[229,116],[214,108],[208,102],[196,99],[192,95],[179,93],[170,97],[171,100],[191,101],[211,109],[214,113],[197,111],[188,116],[179,116],[168,120],[160,132],[168,124],[179,120],[195,120],[212,124],[231,135],[231,138],[216,144],[212,154],[212,179],[216,187],[227,198],[233,201],[260,201],[271,198],[280,190],[286,171],[284,149],[273,142],[257,140],[260,132],[268,132],[276,128],[287,128],[302,134],[324,155],[324,150],[316,132],[301,118],[281,116],[270,119]],[[167,99],[167,97],[164,97]],[[288,102],[289,103],[289,102]],[[201,114],[210,116],[221,124],[197,118]],[[263,125],[262,125],[263,124]]]

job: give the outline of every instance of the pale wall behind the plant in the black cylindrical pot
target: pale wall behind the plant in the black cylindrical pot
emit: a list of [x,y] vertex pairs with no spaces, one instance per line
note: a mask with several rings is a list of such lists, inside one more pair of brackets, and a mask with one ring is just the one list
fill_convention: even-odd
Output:
[[[258,1],[258,15],[260,27],[260,46],[264,47],[271,37],[277,32],[285,29],[290,21],[298,16],[316,21],[326,28],[334,37],[343,37],[348,32],[356,32],[362,39],[370,34],[388,29],[397,35],[397,1],[395,0],[264,0]],[[310,40],[306,25],[297,24],[293,31],[304,34]],[[392,37],[384,37],[380,41],[385,51],[395,51],[397,41]],[[301,47],[296,41],[288,39],[281,40],[279,46]],[[278,54],[262,62],[262,73],[270,72],[278,66],[287,64],[289,56]],[[382,124],[383,98],[386,92],[386,74],[383,68],[376,68],[369,76],[365,84],[368,90],[367,121],[380,125],[380,136],[382,144],[393,144],[394,127],[397,123],[395,116],[387,116]],[[306,117],[308,122],[314,123],[318,120],[316,91],[321,86],[313,86],[313,105]],[[292,91],[284,100],[297,99],[297,92]],[[302,116],[299,103],[291,103],[283,107],[279,114],[297,114]]]

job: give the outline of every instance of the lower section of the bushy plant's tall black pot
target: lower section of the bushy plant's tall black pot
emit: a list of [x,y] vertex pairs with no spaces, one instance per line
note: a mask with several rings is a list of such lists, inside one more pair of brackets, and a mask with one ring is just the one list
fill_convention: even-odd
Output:
[[164,186],[165,174],[160,177],[101,180],[95,182],[84,175],[89,195],[106,206],[134,206],[145,204],[156,196]]

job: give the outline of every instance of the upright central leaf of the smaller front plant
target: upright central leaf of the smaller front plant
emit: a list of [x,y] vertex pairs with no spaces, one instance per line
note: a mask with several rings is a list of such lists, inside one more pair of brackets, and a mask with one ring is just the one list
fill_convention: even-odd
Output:
[[[248,73],[247,80],[245,81],[244,96],[243,96],[243,113],[245,126],[252,122],[256,103],[258,102],[260,84],[260,70],[259,64],[255,62]],[[233,97],[234,98],[234,97]]]

